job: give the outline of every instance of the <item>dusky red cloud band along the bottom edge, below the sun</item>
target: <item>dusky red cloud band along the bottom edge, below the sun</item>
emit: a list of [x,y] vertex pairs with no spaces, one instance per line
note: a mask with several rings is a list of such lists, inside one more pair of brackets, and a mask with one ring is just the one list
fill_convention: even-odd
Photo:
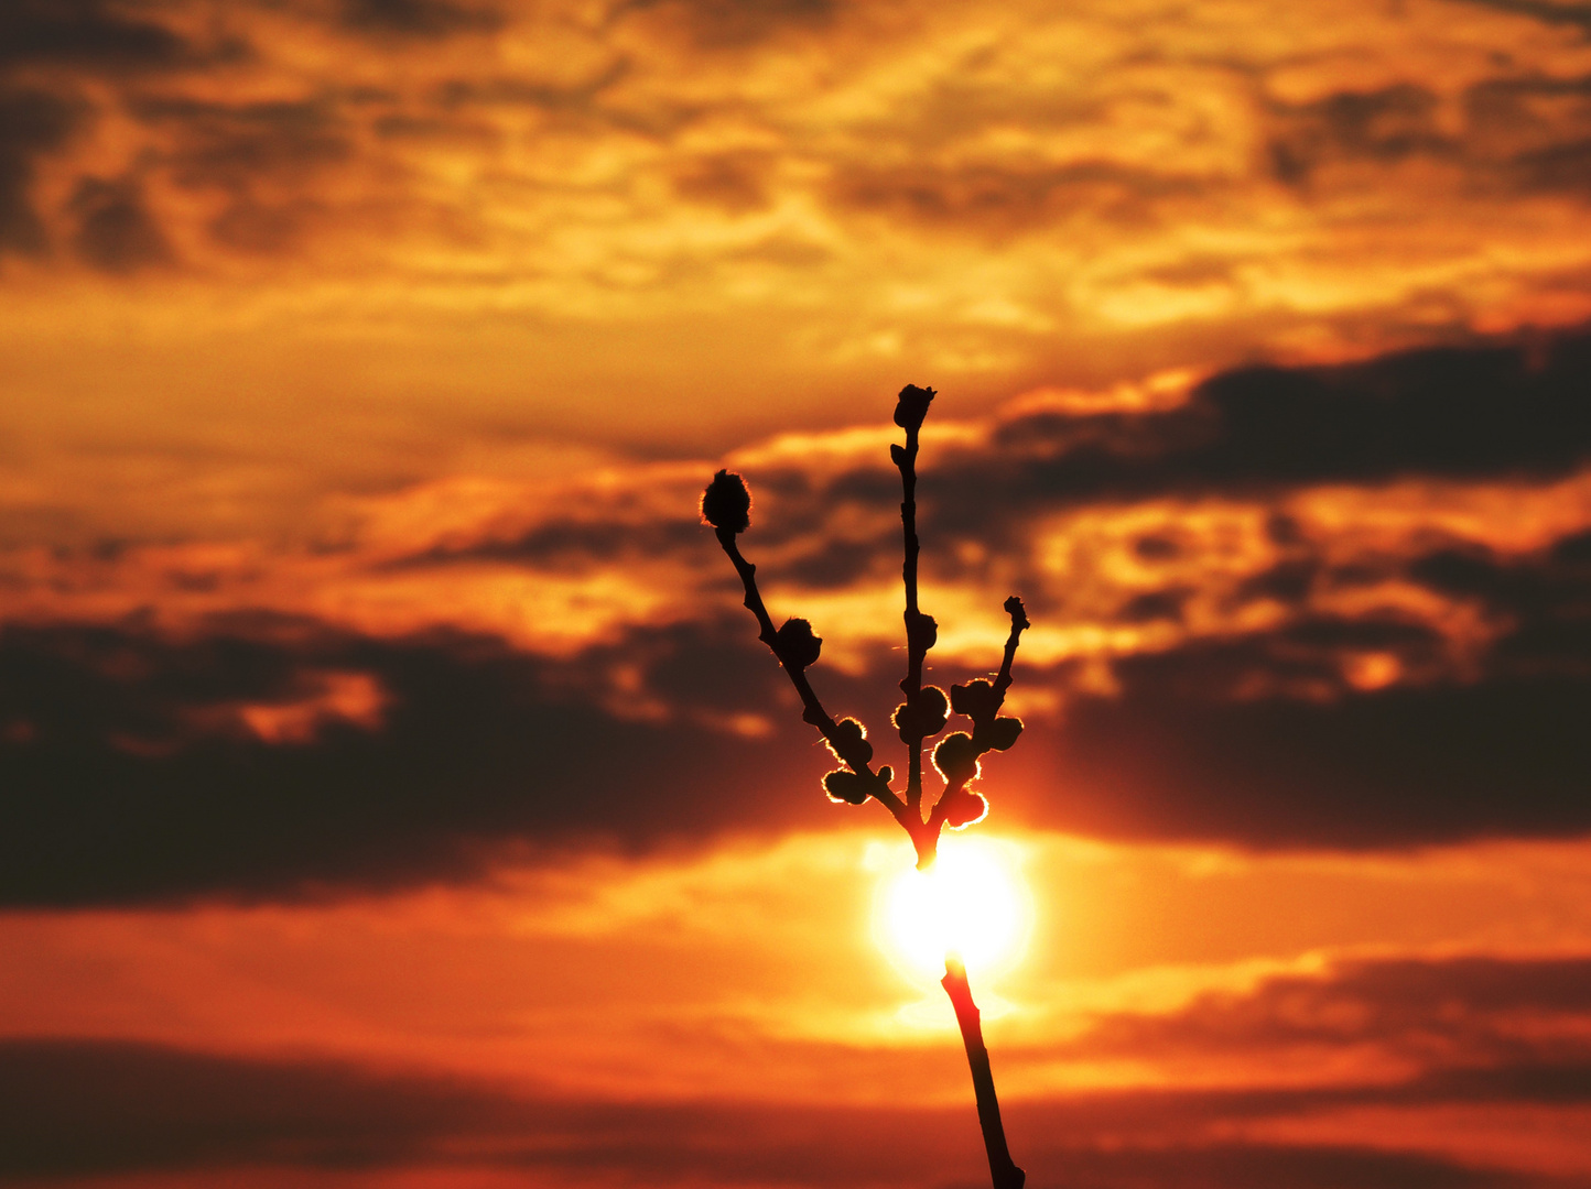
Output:
[[[1228,1089],[1077,1090],[1007,1106],[1037,1168],[1098,1189],[1192,1186],[1564,1184],[1507,1162],[1395,1146],[1243,1138],[1335,1110],[1591,1105],[1583,960],[1360,963],[1282,978],[1163,1017],[1106,1017],[1044,1060],[1231,1057],[1367,1046],[1400,1078]],[[1437,1028],[1437,1032],[1433,1032]],[[1534,1040],[1532,1040],[1534,1038]],[[1314,1048],[1309,1048],[1314,1046]],[[947,1051],[947,1062],[953,1052]],[[1028,1054],[1006,1051],[1009,1067]],[[1301,1060],[1298,1068],[1308,1068]],[[966,1178],[978,1148],[966,1110],[603,1103],[348,1060],[259,1060],[115,1041],[0,1043],[0,1175],[267,1168],[520,1168],[649,1184],[842,1184]],[[724,1137],[732,1135],[732,1144]],[[1449,1137],[1453,1138],[1453,1137]],[[1440,1144],[1438,1144],[1440,1151]]]

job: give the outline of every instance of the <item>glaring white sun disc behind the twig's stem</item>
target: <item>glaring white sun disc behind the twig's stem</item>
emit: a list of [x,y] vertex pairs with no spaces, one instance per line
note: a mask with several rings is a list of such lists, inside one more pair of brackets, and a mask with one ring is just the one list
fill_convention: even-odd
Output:
[[885,951],[913,978],[939,979],[956,951],[977,978],[1023,955],[1033,911],[1010,842],[947,838],[931,873],[905,868],[880,885],[875,912]]

